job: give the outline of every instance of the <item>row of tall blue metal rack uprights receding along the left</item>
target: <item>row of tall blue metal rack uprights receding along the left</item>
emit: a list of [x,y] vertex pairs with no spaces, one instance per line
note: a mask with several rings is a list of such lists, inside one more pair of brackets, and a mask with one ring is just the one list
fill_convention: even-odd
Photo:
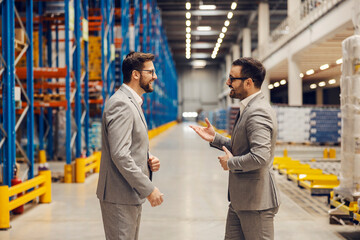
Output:
[[[81,65],[81,18],[89,17],[89,2],[64,0],[64,22],[62,20],[42,20],[40,18],[38,25],[39,42],[39,67],[47,65],[48,67],[59,67],[65,65],[67,74],[65,78],[65,96],[66,106],[66,164],[72,162],[72,152],[75,147],[75,156],[80,157],[86,150],[86,155],[90,154],[89,150],[89,69],[88,69],[88,43],[83,45],[84,65]],[[16,3],[18,4],[18,3]],[[23,3],[20,3],[23,4]],[[74,29],[70,29],[70,5],[74,11]],[[101,49],[102,49],[102,80],[103,80],[103,101],[106,101],[115,90],[115,61],[114,61],[114,26],[115,26],[115,1],[114,0],[90,0],[90,5],[100,8],[102,15],[101,23]],[[24,9],[24,5],[21,5]],[[22,89],[23,99],[27,102],[27,107],[23,114],[18,117],[16,122],[14,88],[15,81],[20,80],[15,75],[14,49],[14,29],[15,29],[15,3],[14,1],[1,1],[1,18],[2,18],[2,51],[0,54],[0,74],[2,74],[3,106],[0,117],[0,151],[3,159],[3,181],[10,185],[13,178],[13,169],[16,161],[16,147],[21,148],[16,141],[16,130],[20,123],[26,120],[27,126],[27,149],[21,151],[26,154],[25,158],[29,164],[29,178],[34,176],[34,78],[33,78],[33,0],[26,0],[26,50],[20,55],[26,53],[27,66],[27,88]],[[37,12],[41,17],[45,12],[47,3],[39,1],[37,3]],[[121,25],[122,25],[122,47],[120,63],[124,56],[130,51],[130,0],[121,1]],[[159,9],[155,0],[134,0],[134,32],[135,44],[132,50],[152,52],[156,55],[155,66],[158,74],[158,80],[155,83],[156,91],[152,94],[145,95],[143,109],[148,119],[149,128],[154,128],[177,117],[177,74],[172,60],[171,52],[164,34]],[[72,16],[72,15],[71,15]],[[20,20],[20,17],[18,17]],[[47,22],[48,21],[48,22]],[[65,63],[59,62],[59,24],[64,23],[65,35]],[[55,55],[53,49],[53,31],[55,25]],[[43,62],[42,36],[43,29],[47,29],[45,34],[47,39],[47,61]],[[70,40],[70,33],[73,31],[74,45]],[[73,62],[70,62],[73,54]],[[21,56],[20,56],[21,57]],[[53,61],[55,60],[55,61]],[[117,69],[119,70],[119,69]],[[74,73],[71,75],[71,73]],[[122,76],[121,76],[122,77]],[[47,79],[47,82],[53,82],[53,79]],[[56,79],[59,81],[59,79]],[[72,89],[71,84],[75,84]],[[82,84],[84,92],[82,94]],[[51,89],[45,89],[44,93],[51,93]],[[59,90],[56,90],[58,93]],[[82,103],[82,101],[84,103]],[[72,102],[75,102],[75,110],[72,111]],[[52,130],[52,109],[48,109],[48,114],[44,114],[41,109],[40,116],[37,118],[39,126],[39,145],[40,149],[46,147],[50,159],[53,155],[53,130]],[[72,116],[75,117],[77,129],[72,134]],[[45,129],[46,127],[46,129]],[[82,131],[85,135],[85,145],[82,146]]]

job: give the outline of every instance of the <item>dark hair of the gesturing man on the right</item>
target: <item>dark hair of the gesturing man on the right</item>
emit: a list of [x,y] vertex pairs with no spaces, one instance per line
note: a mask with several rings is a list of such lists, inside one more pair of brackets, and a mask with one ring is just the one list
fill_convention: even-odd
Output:
[[241,66],[241,77],[251,78],[256,88],[261,88],[264,81],[266,70],[258,60],[250,57],[244,57],[235,60],[233,66]]

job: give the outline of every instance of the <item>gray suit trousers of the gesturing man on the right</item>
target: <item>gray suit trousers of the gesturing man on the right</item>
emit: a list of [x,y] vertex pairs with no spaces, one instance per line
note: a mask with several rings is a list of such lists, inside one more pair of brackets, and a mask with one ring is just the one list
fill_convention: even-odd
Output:
[[235,211],[230,204],[225,240],[273,240],[274,216],[278,209]]

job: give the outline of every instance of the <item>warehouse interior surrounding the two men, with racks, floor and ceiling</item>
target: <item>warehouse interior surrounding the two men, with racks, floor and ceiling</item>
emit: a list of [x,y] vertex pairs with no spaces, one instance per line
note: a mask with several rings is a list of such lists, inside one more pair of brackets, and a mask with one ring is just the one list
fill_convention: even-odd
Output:
[[0,239],[105,239],[96,187],[105,103],[130,51],[153,182],[139,239],[223,239],[228,173],[189,127],[231,137],[232,62],[261,61],[277,115],[275,239],[360,239],[357,0],[0,0]]

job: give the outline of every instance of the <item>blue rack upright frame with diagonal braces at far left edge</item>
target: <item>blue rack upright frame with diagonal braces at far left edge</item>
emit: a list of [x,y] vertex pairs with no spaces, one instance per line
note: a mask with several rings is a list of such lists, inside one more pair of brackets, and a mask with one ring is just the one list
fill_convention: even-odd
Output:
[[[26,1],[26,29],[17,12],[14,1],[0,2],[2,17],[2,54],[0,54],[0,75],[2,87],[2,116],[1,116],[1,140],[0,149],[3,162],[3,184],[11,186],[11,179],[16,163],[16,148],[23,154],[29,165],[28,178],[34,177],[34,106],[33,106],[33,2]],[[26,32],[26,44],[15,58],[15,15],[21,28]],[[27,56],[27,90],[24,90],[22,83],[15,73],[15,66],[20,58],[26,53]],[[27,103],[18,120],[15,116],[15,81],[20,85],[22,94]],[[23,120],[27,125],[27,151],[25,152],[20,143],[16,140],[16,132]]]

